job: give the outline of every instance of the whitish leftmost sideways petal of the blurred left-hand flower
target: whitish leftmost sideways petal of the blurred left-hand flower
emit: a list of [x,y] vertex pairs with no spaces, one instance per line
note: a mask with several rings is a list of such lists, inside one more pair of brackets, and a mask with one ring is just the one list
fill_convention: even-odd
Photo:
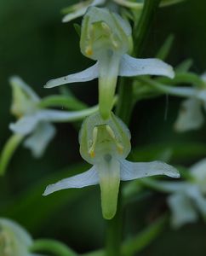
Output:
[[19,119],[17,122],[11,123],[9,125],[9,129],[14,131],[14,133],[27,135],[37,127],[38,122],[39,118],[37,113],[26,115]]

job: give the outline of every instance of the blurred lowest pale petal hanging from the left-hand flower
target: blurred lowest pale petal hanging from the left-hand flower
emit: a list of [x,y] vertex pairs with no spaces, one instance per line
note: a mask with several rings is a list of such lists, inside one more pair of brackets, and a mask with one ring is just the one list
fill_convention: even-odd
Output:
[[55,135],[54,125],[47,122],[41,122],[37,125],[35,131],[28,137],[24,143],[26,148],[30,148],[34,157],[43,155],[49,142]]

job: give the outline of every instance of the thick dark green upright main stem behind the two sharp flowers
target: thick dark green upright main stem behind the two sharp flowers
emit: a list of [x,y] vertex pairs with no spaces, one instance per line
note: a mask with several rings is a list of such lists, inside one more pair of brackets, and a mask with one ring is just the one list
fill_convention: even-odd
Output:
[[[138,26],[134,27],[134,55],[140,55],[146,34],[151,25],[152,17],[160,0],[146,0]],[[130,85],[130,86],[129,86]],[[119,87],[117,115],[129,125],[133,102],[133,87],[131,79],[122,79]],[[107,224],[106,256],[119,256],[123,234],[123,202],[122,191],[119,189],[117,213]]]

